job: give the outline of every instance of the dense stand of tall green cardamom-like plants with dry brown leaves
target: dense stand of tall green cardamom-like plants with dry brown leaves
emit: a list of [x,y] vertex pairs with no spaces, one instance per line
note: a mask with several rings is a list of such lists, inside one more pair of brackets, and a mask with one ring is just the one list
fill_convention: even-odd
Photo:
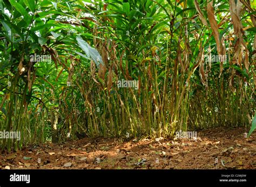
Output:
[[[253,1],[251,1],[253,2]],[[0,1],[2,149],[252,124],[255,4]]]

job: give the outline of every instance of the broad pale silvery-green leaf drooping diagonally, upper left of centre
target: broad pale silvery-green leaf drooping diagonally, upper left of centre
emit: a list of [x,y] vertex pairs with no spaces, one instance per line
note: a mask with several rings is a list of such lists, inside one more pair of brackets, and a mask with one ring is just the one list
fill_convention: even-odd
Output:
[[99,63],[103,64],[102,57],[100,56],[99,52],[84,41],[82,37],[77,37],[77,43],[85,54],[95,62],[97,67],[99,66]]

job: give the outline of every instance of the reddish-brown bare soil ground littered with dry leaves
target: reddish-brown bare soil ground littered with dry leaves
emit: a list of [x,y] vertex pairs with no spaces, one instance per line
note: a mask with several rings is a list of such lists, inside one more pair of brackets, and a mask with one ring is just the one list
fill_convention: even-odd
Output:
[[[256,133],[207,129],[197,140],[83,138],[0,154],[0,169],[256,169]],[[218,158],[218,163],[216,158]]]

